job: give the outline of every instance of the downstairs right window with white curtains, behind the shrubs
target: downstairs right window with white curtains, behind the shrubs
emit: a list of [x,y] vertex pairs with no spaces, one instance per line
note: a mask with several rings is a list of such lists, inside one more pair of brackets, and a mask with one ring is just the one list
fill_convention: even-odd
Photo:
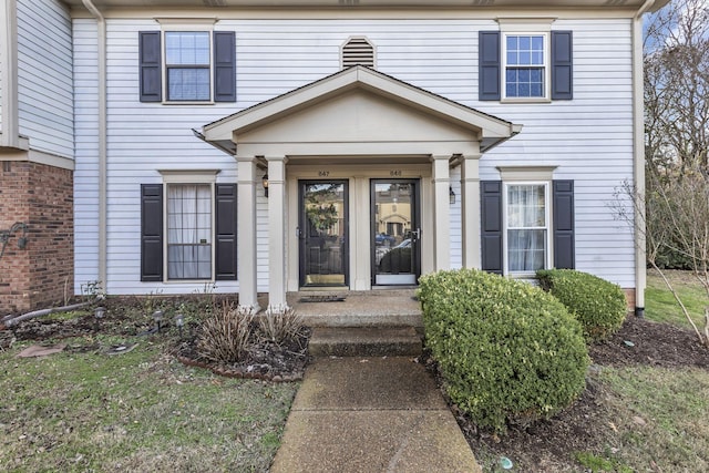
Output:
[[504,198],[505,273],[528,275],[548,267],[548,184],[506,183]]

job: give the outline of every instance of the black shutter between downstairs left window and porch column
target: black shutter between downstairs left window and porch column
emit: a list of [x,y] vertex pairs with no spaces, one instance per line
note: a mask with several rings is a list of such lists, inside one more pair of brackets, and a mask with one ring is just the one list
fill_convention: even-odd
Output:
[[236,184],[217,184],[216,279],[236,280]]

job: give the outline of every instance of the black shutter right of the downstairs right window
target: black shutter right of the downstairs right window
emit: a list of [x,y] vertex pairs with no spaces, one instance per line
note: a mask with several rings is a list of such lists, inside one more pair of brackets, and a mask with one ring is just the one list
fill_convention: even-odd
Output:
[[554,181],[554,267],[574,269],[574,182]]

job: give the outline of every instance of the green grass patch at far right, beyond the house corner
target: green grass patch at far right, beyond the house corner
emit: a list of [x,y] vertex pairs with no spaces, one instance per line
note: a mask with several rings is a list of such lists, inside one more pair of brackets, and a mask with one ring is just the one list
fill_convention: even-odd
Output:
[[[705,288],[690,271],[667,270],[666,276],[679,294],[695,323],[703,327],[705,307],[709,306]],[[691,328],[665,281],[653,270],[647,273],[645,316],[649,320]]]

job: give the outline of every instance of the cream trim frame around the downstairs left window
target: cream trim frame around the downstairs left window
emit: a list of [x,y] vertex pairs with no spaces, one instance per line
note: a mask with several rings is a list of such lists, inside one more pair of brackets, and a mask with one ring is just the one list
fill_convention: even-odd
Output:
[[[163,175],[163,282],[165,284],[205,284],[205,282],[215,282],[216,275],[216,202],[214,198],[215,195],[215,186],[216,186],[216,175],[219,173],[218,169],[206,169],[206,171],[173,171],[173,169],[162,169],[158,171]],[[168,270],[167,270],[167,246],[168,246],[168,230],[167,230],[167,200],[168,200],[168,191],[167,187],[171,184],[208,184],[210,188],[210,206],[212,206],[212,269],[209,279],[169,279]]]

